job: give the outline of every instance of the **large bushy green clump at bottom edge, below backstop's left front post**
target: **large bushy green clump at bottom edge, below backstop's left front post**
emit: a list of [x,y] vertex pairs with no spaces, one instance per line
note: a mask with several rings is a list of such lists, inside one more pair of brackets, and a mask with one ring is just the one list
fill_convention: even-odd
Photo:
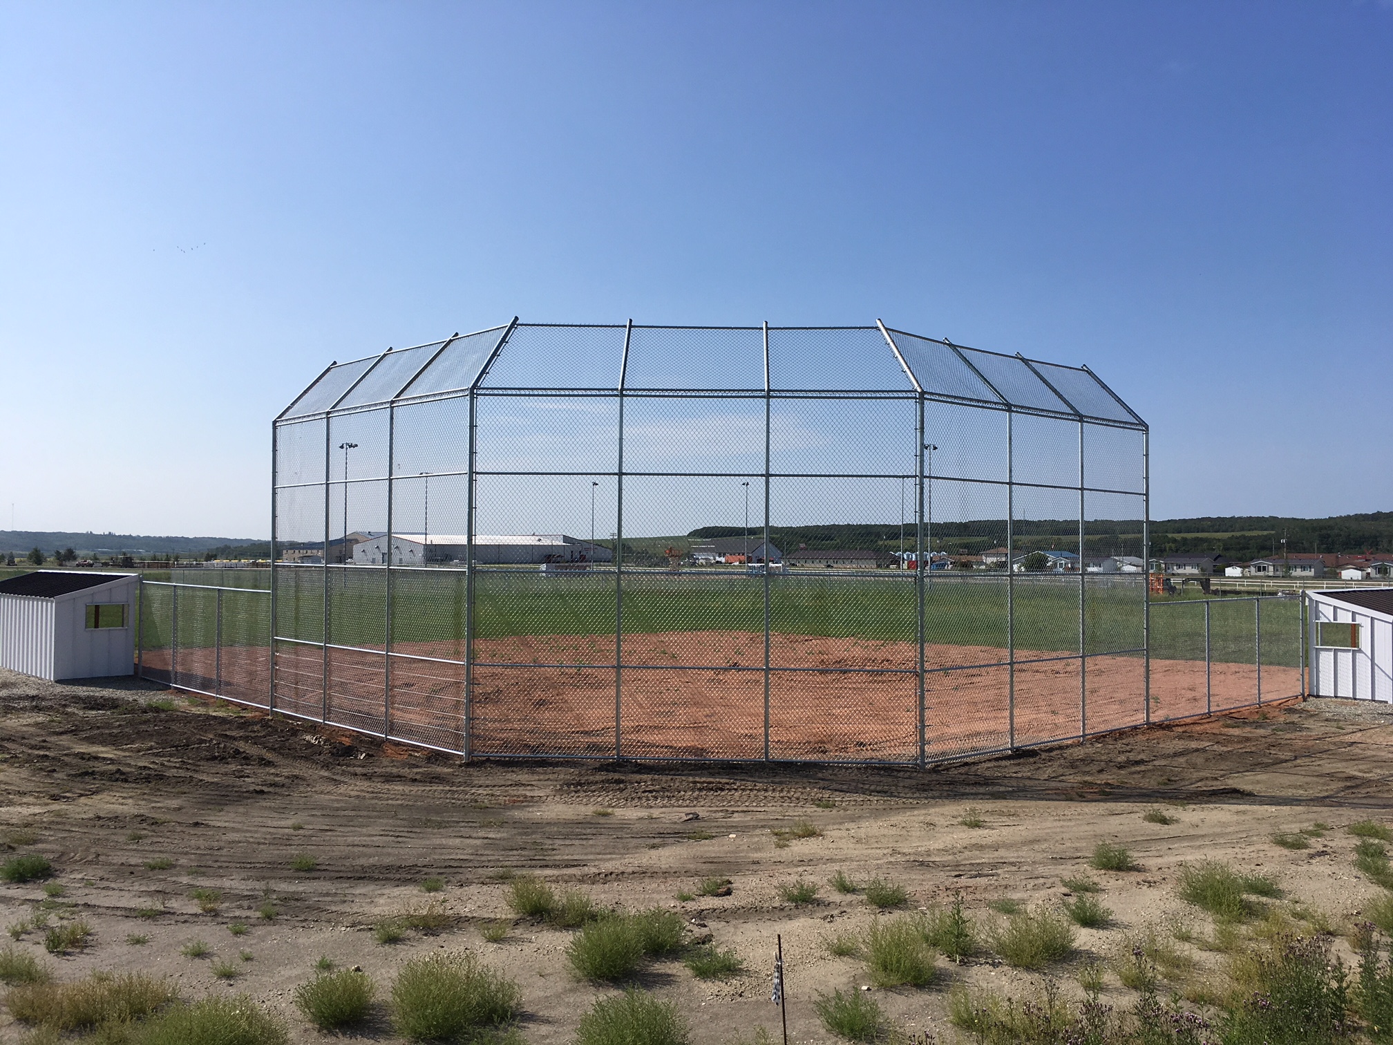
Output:
[[517,1016],[522,992],[468,952],[407,961],[391,985],[391,1023],[412,1041],[464,1038]]

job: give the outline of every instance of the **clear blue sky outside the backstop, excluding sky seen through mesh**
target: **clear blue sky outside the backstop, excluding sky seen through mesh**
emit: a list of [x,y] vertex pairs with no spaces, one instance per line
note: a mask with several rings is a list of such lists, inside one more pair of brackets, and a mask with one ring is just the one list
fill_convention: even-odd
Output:
[[1096,369],[1152,516],[1393,507],[1393,4],[0,3],[0,528],[265,536],[330,361],[868,323]]

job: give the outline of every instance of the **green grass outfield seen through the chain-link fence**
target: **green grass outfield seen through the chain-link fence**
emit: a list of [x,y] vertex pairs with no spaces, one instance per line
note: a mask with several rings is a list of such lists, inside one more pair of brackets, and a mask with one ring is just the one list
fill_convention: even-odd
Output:
[[[201,574],[203,571],[199,571]],[[458,570],[393,571],[394,644],[450,642],[464,635],[465,584]],[[929,644],[1007,645],[1004,574],[925,578],[925,640]],[[330,641],[380,647],[384,640],[386,587],[380,570],[332,570]],[[170,640],[170,591],[146,585],[145,647]],[[313,568],[287,568],[277,588],[279,634],[319,642],[325,631],[325,577]],[[1087,577],[1082,594],[1087,653],[1142,645],[1141,577]],[[259,645],[266,634],[269,598],[223,594],[223,642]],[[1262,601],[1262,660],[1300,665],[1297,599]],[[769,575],[769,619],[775,634],[914,642],[915,578],[890,571],[807,571]],[[625,633],[763,630],[765,578],[737,570],[681,573],[625,571]],[[215,596],[182,589],[181,647],[212,645]],[[475,634],[481,640],[518,635],[603,635],[616,623],[614,573],[542,574],[536,568],[479,570]],[[1152,603],[1152,656],[1202,660],[1204,603]],[[1252,663],[1254,602],[1211,603],[1211,655],[1216,662]],[[1061,575],[1014,578],[1014,640],[1020,651],[1080,652],[1080,580]]]

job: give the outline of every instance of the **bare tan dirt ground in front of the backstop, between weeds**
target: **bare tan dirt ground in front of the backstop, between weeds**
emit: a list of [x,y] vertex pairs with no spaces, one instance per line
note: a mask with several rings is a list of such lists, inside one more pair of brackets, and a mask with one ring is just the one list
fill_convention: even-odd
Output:
[[[169,975],[185,998],[247,992],[283,1012],[298,1042],[322,1037],[291,1002],[316,959],[361,966],[384,995],[407,957],[437,947],[468,947],[517,978],[529,1042],[568,1042],[581,1012],[609,988],[570,974],[564,931],[520,920],[499,943],[481,938],[485,922],[508,917],[503,879],[515,871],[603,904],[680,910],[694,935],[737,950],[747,973],[727,982],[695,980],[677,960],[644,977],[688,1016],[695,1045],[748,1037],[759,1024],[777,1037],[779,1012],[768,1000],[775,934],[784,940],[790,1038],[830,1041],[812,999],[869,980],[862,961],[832,957],[822,940],[875,917],[858,896],[832,890],[837,869],[905,885],[911,908],[961,892],[983,924],[995,917],[989,900],[1055,904],[1061,876],[1092,875],[1116,918],[1081,929],[1078,957],[1056,970],[1066,993],[1077,993],[1068,973],[1091,954],[1128,952],[1137,934],[1183,921],[1204,934],[1206,921],[1176,896],[1184,861],[1212,857],[1269,874],[1337,927],[1357,917],[1378,890],[1355,872],[1354,839],[1340,828],[1393,818],[1390,777],[1393,709],[1351,701],[1294,702],[928,772],[461,765],[134,679],[50,684],[0,670],[0,837],[10,854],[53,861],[65,886],[50,903],[54,920],[81,917],[95,929],[86,950],[64,957],[46,956],[33,931],[17,946],[53,961],[61,978],[142,968]],[[1156,807],[1177,822],[1144,821]],[[963,826],[968,810],[985,826]],[[800,819],[822,833],[780,844],[772,829]],[[1316,821],[1330,830],[1307,850],[1270,842]],[[1099,840],[1127,846],[1141,869],[1088,871]],[[293,871],[298,854],[316,868]],[[148,867],[163,860],[171,865]],[[676,899],[708,875],[733,879],[731,895]],[[419,888],[428,876],[446,882],[435,897]],[[819,883],[815,903],[779,899],[777,886],[798,878]],[[198,888],[220,890],[221,908],[201,913],[189,896]],[[0,922],[21,921],[43,899],[39,883],[0,885]],[[267,899],[279,910],[272,921],[258,915]],[[375,942],[375,922],[433,899],[453,918],[443,931]],[[231,935],[234,922],[245,922],[247,935]],[[132,934],[148,942],[128,942]],[[213,953],[184,957],[195,939]],[[240,963],[244,975],[219,981],[213,963],[241,950],[251,954]],[[1222,960],[1194,956],[1201,968]],[[989,956],[940,966],[926,989],[875,992],[904,1031],[951,1041],[946,998],[956,982],[1018,995],[1041,982]],[[1116,977],[1107,982],[1109,998],[1126,1003]],[[394,1039],[384,1017],[348,1037]],[[21,1038],[0,1016],[0,1041]]]

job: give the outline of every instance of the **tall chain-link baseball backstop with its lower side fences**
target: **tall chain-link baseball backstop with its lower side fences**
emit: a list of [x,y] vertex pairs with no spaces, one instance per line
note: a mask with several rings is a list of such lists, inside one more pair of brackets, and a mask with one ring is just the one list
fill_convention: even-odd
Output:
[[1081,368],[514,322],[330,368],[274,475],[273,591],[148,584],[150,677],[467,757],[868,762],[1300,691],[1294,603],[1148,620],[1146,429]]

